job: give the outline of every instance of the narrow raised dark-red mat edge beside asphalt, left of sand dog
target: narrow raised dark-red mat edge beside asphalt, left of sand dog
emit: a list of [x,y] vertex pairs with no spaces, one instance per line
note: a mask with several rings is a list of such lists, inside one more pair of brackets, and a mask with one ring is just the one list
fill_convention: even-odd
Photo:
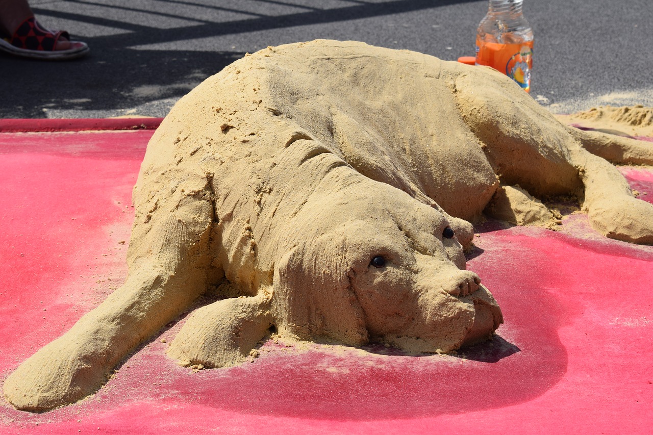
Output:
[[155,130],[163,118],[4,119],[0,133],[89,130]]

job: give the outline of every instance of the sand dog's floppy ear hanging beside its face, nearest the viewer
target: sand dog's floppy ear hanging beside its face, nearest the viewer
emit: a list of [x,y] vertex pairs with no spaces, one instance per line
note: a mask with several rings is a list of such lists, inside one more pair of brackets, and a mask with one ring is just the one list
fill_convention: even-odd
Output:
[[322,337],[353,346],[368,342],[348,263],[342,234],[302,242],[283,255],[274,268],[272,295],[279,334],[304,340]]

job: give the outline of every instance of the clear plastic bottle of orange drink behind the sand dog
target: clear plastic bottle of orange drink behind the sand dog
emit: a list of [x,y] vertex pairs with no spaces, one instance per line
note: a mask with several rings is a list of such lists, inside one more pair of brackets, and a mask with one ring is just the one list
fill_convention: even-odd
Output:
[[490,0],[476,33],[476,65],[509,76],[530,92],[533,29],[522,13],[524,0]]

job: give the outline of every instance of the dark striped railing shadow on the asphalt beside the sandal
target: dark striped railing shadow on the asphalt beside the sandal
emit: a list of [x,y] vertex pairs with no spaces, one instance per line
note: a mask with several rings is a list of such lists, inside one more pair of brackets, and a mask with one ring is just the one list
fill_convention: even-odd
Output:
[[[301,5],[299,2],[258,0],[245,2],[249,10],[223,6],[223,3],[229,2],[202,4],[182,0],[135,2],[130,3],[129,7],[123,2],[112,5],[108,1],[67,0],[47,6],[52,9],[40,8],[39,3],[33,5],[37,17],[103,26],[118,29],[118,33],[84,37],[91,47],[91,54],[77,61],[44,63],[0,55],[0,75],[8,78],[5,83],[11,83],[11,86],[3,86],[0,118],[65,118],[68,117],[66,111],[84,111],[91,117],[103,117],[101,112],[107,111],[113,112],[113,116],[138,114],[139,106],[168,99],[167,106],[159,108],[157,114],[165,116],[176,99],[204,78],[244,56],[244,52],[226,50],[231,47],[225,47],[224,51],[182,51],[165,48],[148,50],[149,47],[143,49],[144,46],[166,44],[168,47],[187,40],[347,22],[471,1],[475,0],[394,0],[379,3],[347,0],[338,2],[339,7],[323,9],[315,7],[321,3],[312,1],[304,1],[305,4]],[[152,4],[157,10],[138,7],[151,7]],[[229,3],[234,4],[240,3]],[[67,10],[56,9],[57,5],[66,5]],[[71,12],[75,10],[71,5],[78,7],[80,13]],[[184,16],[180,11],[189,7],[205,10],[206,15],[194,18]],[[296,12],[274,14],[279,10]],[[187,18],[191,24],[163,29],[147,22],[134,24],[134,16],[138,14],[146,14],[159,22]],[[219,17],[223,20],[225,14],[239,19],[220,21]],[[74,34],[74,29],[70,30]],[[266,46],[266,42],[269,41],[261,41],[259,48]]]

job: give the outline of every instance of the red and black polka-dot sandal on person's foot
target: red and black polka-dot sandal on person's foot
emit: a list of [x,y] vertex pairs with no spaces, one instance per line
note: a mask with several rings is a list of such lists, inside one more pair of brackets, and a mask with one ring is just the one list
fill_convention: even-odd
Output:
[[[61,38],[69,40],[71,48],[55,50]],[[85,42],[70,40],[66,31],[44,29],[31,16],[18,26],[14,35],[0,39],[0,51],[31,59],[68,60],[86,56],[90,50]]]

